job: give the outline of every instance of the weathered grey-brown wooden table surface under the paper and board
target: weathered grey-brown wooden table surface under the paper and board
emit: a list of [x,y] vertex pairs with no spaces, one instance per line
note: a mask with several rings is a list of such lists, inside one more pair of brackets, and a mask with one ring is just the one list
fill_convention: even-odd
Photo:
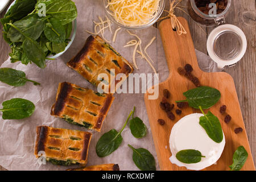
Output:
[[[81,0],[82,1],[82,0]],[[166,0],[169,1],[169,0]],[[186,6],[187,1],[181,2],[181,6]],[[13,0],[11,0],[13,2]],[[10,3],[11,3],[10,2]],[[169,10],[170,3],[166,3],[166,10]],[[0,18],[3,18],[6,10],[0,14]],[[189,16],[181,10],[176,10],[177,16],[183,16],[188,20],[189,28],[195,48],[201,52],[207,54],[207,37],[209,32],[213,28],[199,27]],[[163,16],[166,13],[163,13]],[[233,0],[230,7],[229,14],[226,16],[226,23],[234,24],[242,29],[247,38],[247,51],[242,60],[237,63],[235,67],[225,68],[224,71],[229,73],[236,85],[237,96],[240,102],[243,119],[245,122],[247,136],[251,147],[251,152],[254,158],[254,164],[256,164],[256,45],[255,45],[255,30],[256,30],[256,11],[255,0]],[[158,23],[155,24],[158,26]],[[0,32],[0,65],[9,57],[10,48],[9,45],[2,38],[2,25]],[[203,31],[203,30],[204,31]],[[0,171],[6,170],[0,166]]]

